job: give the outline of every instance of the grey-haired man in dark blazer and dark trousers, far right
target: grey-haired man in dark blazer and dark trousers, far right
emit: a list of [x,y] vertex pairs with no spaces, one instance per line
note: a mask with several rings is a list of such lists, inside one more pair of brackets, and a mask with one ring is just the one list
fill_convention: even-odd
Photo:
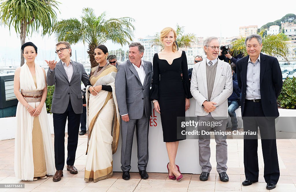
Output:
[[[267,189],[279,180],[275,139],[275,118],[279,116],[276,99],[283,86],[281,68],[275,57],[261,53],[262,38],[255,34],[245,39],[248,56],[237,61],[237,81],[241,88],[244,131],[260,129]],[[244,135],[244,172],[242,185],[258,182],[258,139]]]

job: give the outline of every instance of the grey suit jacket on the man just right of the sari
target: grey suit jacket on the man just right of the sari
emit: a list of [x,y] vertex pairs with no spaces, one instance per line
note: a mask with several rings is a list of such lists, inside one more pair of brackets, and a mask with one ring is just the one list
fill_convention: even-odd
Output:
[[152,63],[149,61],[143,62],[146,73],[144,85],[142,85],[135,67],[129,60],[118,65],[115,78],[115,93],[119,114],[128,114],[130,119],[141,119],[144,106],[146,117],[152,114],[151,101],[149,100]]

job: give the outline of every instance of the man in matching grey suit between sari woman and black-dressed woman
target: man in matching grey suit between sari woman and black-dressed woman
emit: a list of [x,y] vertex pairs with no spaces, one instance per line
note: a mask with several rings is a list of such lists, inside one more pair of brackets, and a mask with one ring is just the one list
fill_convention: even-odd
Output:
[[130,179],[131,151],[133,133],[136,127],[138,145],[138,169],[142,179],[149,176],[146,172],[148,163],[149,118],[152,114],[149,101],[152,80],[152,63],[143,61],[144,46],[141,43],[129,45],[129,60],[118,66],[115,79],[115,92],[119,114],[121,115],[121,169],[122,178]]

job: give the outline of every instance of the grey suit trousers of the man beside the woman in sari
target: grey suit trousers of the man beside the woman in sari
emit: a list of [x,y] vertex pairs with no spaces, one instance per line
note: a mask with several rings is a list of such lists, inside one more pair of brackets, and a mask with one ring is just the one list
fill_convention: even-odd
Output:
[[141,119],[130,119],[129,122],[121,120],[121,170],[131,170],[131,151],[133,146],[133,133],[136,128],[138,146],[138,169],[146,170],[148,163],[148,133],[149,117],[144,112]]

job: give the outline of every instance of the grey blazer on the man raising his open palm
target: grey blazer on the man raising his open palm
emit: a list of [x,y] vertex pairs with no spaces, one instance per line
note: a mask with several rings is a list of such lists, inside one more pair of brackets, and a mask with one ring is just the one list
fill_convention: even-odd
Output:
[[62,61],[57,63],[54,71],[47,70],[47,85],[55,85],[52,95],[52,113],[64,113],[68,107],[69,99],[71,99],[74,112],[76,114],[82,113],[81,81],[86,86],[89,84],[89,77],[81,63],[71,61],[73,75],[70,83]]

